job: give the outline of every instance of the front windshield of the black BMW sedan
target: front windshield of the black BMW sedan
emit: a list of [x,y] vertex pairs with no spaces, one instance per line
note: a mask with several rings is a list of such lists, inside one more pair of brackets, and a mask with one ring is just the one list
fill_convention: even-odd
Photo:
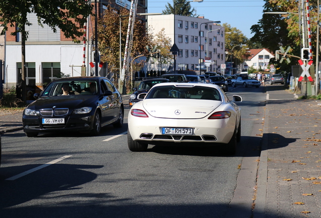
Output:
[[94,95],[97,94],[95,81],[61,81],[50,83],[42,92],[41,96],[60,95]]

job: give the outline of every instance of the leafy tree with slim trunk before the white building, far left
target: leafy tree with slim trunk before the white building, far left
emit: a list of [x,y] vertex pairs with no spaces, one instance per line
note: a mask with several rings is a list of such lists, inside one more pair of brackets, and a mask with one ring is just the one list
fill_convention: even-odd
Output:
[[47,24],[53,32],[59,27],[66,38],[72,38],[80,42],[78,37],[83,35],[83,25],[87,17],[92,14],[92,6],[86,0],[1,0],[0,1],[0,23],[4,29],[4,35],[8,27],[16,27],[12,35],[21,33],[22,51],[22,100],[26,100],[26,74],[25,74],[25,42],[28,39],[28,31],[25,26],[32,25],[28,19],[28,13],[35,13],[38,24]]

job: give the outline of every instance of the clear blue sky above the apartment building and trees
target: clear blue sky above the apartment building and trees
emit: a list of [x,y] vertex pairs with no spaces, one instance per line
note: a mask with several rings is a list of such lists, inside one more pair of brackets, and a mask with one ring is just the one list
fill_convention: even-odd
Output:
[[[173,0],[147,0],[147,12],[162,13],[167,3],[173,6]],[[253,34],[250,28],[262,18],[264,3],[263,0],[204,0],[202,3],[191,2],[190,5],[195,8],[197,15],[212,21],[221,21],[221,25],[228,23],[242,31],[247,38],[251,38]]]

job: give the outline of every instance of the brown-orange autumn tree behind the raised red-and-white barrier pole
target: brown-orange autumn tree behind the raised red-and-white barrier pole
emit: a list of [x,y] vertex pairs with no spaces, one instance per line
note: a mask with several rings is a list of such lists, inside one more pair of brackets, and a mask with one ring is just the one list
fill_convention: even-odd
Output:
[[[121,17],[120,17],[121,16]],[[107,6],[104,11],[104,15],[102,18],[98,19],[98,44],[99,51],[101,54],[101,61],[107,62],[109,71],[114,72],[114,81],[115,84],[118,83],[117,75],[119,75],[119,66],[120,66],[120,19],[121,19],[121,45],[122,45],[122,53],[121,57],[124,57],[126,38],[127,38],[127,30],[128,30],[128,21],[129,21],[129,10],[125,8],[115,9],[111,6]],[[139,19],[135,19],[134,31],[130,55],[128,62],[131,63],[131,60],[137,56],[148,55],[148,51],[146,49],[146,45],[151,47],[152,35],[146,34],[145,26]],[[134,62],[133,64],[133,72],[139,71],[145,62]],[[121,66],[123,64],[121,63]],[[129,72],[125,72],[125,77],[130,77]],[[127,82],[130,82],[127,80]],[[130,87],[129,84],[126,87]],[[128,90],[131,91],[131,90]]]

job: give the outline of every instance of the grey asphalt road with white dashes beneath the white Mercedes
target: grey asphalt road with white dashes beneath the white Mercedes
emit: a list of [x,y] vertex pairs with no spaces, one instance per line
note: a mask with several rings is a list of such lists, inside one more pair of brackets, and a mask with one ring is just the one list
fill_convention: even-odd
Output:
[[0,216],[250,217],[265,93],[264,87],[229,88],[229,98],[243,97],[242,138],[234,156],[159,146],[131,152],[127,116],[123,128],[108,126],[98,137],[5,134]]

